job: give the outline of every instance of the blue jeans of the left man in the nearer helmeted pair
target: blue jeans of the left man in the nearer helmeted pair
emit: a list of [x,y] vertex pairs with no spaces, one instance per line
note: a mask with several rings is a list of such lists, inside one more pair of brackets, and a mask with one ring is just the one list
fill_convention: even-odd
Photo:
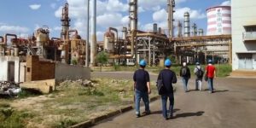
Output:
[[150,112],[149,110],[149,101],[148,101],[148,92],[143,92],[140,90],[135,90],[135,109],[136,109],[136,113],[140,114],[140,102],[141,102],[141,98],[143,98],[143,102],[145,104],[145,111],[148,113]]

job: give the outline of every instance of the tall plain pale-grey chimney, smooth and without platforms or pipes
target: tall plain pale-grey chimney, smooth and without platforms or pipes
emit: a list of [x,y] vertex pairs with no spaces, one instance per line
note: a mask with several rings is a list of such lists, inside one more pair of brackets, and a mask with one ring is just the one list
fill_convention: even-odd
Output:
[[91,0],[90,66],[95,66],[96,56],[96,0]]

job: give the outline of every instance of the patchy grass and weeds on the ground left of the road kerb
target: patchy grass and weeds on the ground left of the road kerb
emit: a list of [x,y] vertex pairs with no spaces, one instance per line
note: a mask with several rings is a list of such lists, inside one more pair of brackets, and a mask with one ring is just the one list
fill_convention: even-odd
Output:
[[[0,99],[0,127],[68,127],[133,104],[132,80],[65,81],[56,88],[49,95]],[[150,96],[158,96],[154,81]]]

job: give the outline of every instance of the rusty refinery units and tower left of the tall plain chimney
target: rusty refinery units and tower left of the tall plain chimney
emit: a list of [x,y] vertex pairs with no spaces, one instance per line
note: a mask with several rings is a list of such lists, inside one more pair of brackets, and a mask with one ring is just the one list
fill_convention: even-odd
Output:
[[67,3],[62,9],[61,26],[60,38],[49,38],[48,26],[38,28],[29,38],[7,33],[0,37],[0,55],[20,56],[24,61],[26,55],[38,55],[43,60],[84,65],[86,42],[77,30],[69,29]]

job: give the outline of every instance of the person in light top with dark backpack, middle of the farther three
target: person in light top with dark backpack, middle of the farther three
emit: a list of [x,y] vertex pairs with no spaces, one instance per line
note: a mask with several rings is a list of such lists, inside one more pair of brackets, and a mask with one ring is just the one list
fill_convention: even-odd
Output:
[[194,69],[194,73],[195,73],[195,90],[202,90],[202,79],[204,76],[204,71],[200,65],[199,62],[195,63],[195,69]]

